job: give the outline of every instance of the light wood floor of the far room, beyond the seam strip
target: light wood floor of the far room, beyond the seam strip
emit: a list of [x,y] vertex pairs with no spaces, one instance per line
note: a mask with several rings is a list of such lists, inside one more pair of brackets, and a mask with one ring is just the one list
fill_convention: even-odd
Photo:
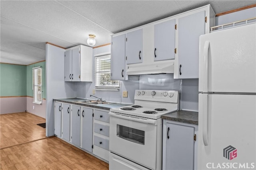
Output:
[[45,119],[31,113],[0,115],[0,148],[44,138],[45,128],[36,124]]

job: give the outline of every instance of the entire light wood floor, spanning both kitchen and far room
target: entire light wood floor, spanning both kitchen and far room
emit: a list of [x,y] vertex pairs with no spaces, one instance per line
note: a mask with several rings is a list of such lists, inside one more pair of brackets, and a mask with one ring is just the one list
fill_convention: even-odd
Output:
[[108,163],[83,150],[45,138],[45,129],[36,125],[45,120],[39,119],[30,113],[0,115],[0,170],[108,170]]

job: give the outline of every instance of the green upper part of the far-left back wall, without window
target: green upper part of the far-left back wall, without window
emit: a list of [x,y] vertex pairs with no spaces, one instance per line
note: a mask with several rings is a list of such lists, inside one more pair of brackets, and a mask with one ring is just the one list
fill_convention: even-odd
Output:
[[0,96],[26,96],[26,66],[0,63]]

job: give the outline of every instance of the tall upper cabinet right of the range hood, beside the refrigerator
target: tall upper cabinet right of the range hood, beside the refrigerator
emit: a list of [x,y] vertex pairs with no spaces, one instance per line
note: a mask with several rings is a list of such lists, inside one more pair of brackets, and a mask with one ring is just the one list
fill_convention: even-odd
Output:
[[174,78],[199,77],[199,37],[210,33],[215,13],[210,5],[179,15],[176,20]]

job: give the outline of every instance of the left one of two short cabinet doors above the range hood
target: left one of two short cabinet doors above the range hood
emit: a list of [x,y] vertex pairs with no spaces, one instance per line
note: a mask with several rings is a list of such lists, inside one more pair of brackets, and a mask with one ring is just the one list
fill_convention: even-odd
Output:
[[142,29],[126,34],[126,64],[142,63]]

